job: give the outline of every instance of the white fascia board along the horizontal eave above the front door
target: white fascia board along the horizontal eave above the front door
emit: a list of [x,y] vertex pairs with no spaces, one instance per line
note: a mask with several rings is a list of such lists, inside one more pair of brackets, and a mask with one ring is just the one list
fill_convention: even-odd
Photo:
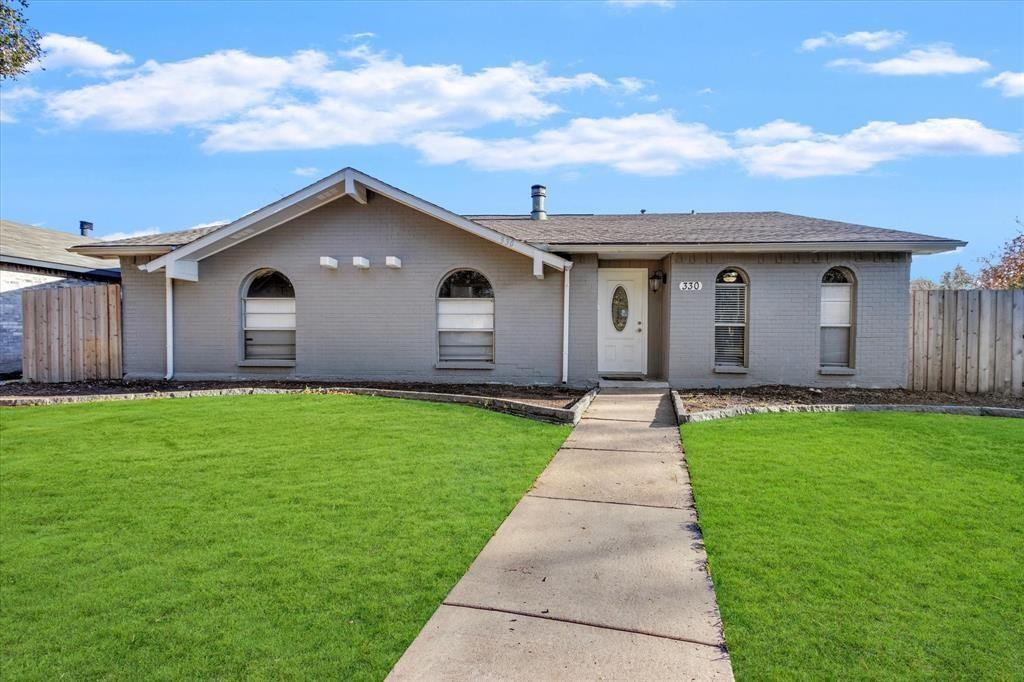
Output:
[[630,254],[665,251],[668,253],[793,253],[884,251],[931,254],[954,251],[967,242],[737,242],[731,244],[552,244],[561,253]]

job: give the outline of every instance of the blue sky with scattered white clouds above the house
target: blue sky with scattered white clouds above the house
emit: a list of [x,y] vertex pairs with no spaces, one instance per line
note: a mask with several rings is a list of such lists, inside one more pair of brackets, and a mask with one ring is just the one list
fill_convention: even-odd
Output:
[[1024,217],[1024,3],[35,2],[0,214],[228,220],[344,166],[462,213],[780,210],[969,241]]

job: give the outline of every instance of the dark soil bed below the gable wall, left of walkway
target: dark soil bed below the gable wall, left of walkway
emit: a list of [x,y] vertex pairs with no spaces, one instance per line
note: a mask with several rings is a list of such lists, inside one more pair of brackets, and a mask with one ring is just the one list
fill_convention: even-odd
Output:
[[569,408],[587,391],[561,386],[513,386],[510,384],[430,384],[391,381],[79,381],[62,384],[0,384],[0,396],[109,395],[200,391],[217,388],[382,388],[393,391],[421,391],[461,395],[482,395],[519,400],[545,408]]

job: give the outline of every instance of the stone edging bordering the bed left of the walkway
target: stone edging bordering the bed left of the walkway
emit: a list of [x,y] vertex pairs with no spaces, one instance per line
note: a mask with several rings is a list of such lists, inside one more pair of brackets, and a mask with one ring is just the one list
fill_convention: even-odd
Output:
[[218,395],[273,395],[281,393],[351,393],[353,395],[376,395],[379,397],[403,398],[407,400],[428,400],[431,402],[455,402],[470,404],[495,412],[504,412],[519,417],[527,417],[557,424],[575,424],[590,406],[598,389],[593,389],[577,400],[571,408],[547,408],[508,398],[484,395],[462,395],[459,393],[428,393],[421,391],[397,391],[383,388],[356,388],[348,386],[325,388],[212,388],[195,391],[150,391],[145,393],[98,393],[95,395],[32,395],[26,397],[0,397],[0,408],[25,408],[44,404],[68,404],[73,402],[101,402],[108,400],[147,400],[153,398],[188,398]]

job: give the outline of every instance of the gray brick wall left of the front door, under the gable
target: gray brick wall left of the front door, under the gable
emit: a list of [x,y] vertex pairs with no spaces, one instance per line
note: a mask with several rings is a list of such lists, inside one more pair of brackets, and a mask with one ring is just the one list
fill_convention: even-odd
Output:
[[[337,258],[339,269],[319,267],[321,256]],[[354,269],[352,256],[369,258],[371,268]],[[386,256],[401,258],[401,269],[384,267]],[[282,271],[295,287],[294,369],[238,367],[241,286],[260,267]],[[460,267],[480,270],[495,288],[494,370],[434,367],[436,290]],[[126,371],[162,375],[164,275],[125,270]],[[570,299],[577,308],[588,304],[587,270],[582,264],[572,273],[583,285]],[[531,272],[529,258],[385,198],[367,206],[342,199],[201,261],[199,282],[174,283],[175,376],[556,383],[562,275]],[[570,367],[584,381],[589,342],[574,338],[581,359]]]

